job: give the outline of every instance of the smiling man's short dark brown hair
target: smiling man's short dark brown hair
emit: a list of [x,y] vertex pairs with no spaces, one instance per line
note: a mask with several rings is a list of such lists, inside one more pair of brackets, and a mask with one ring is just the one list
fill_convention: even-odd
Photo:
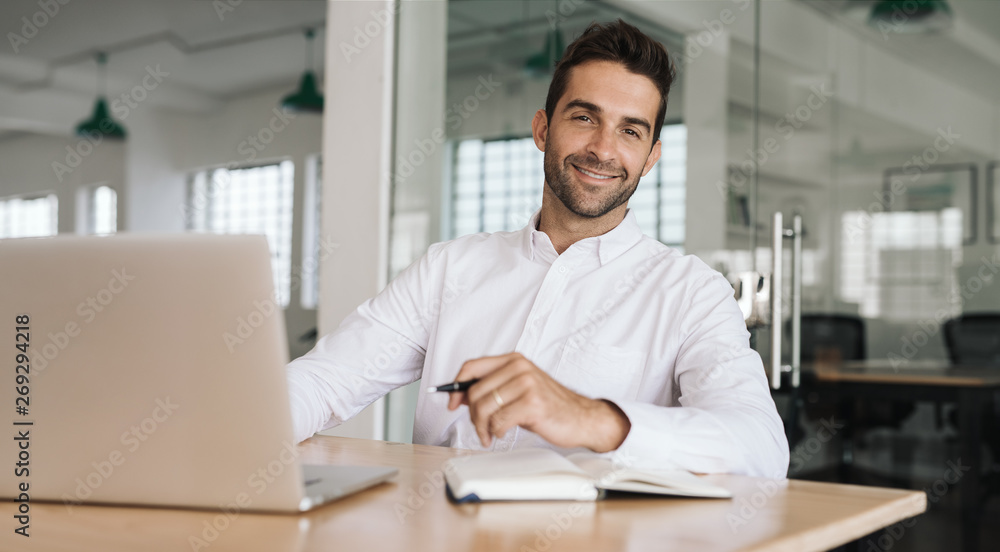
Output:
[[674,64],[662,44],[645,35],[637,27],[621,19],[601,25],[592,23],[573,41],[556,64],[549,93],[545,97],[545,116],[552,122],[556,104],[566,92],[570,71],[588,61],[613,61],[625,69],[653,81],[660,91],[660,109],[653,125],[653,143],[660,139],[660,128],[667,113],[667,93],[674,82]]

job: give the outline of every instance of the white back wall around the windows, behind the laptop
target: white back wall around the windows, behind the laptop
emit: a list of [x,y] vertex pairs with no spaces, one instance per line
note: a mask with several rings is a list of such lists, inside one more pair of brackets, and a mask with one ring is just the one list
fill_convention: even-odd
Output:
[[[74,232],[79,187],[106,183],[118,192],[119,231],[182,232],[186,182],[192,172],[288,158],[296,165],[292,266],[300,267],[304,167],[306,157],[320,151],[321,118],[285,115],[287,124],[279,132],[271,131],[273,139],[261,151],[254,149],[253,159],[245,143],[248,136],[270,129],[278,117],[274,110],[281,97],[295,85],[290,82],[250,92],[214,113],[191,115],[141,104],[122,121],[128,132],[124,142],[104,140],[92,149],[86,139],[76,137],[26,134],[2,140],[0,197],[54,190],[59,200],[59,231]],[[67,147],[87,154],[77,163]],[[60,182],[57,172],[62,171],[53,169],[53,163],[76,166],[61,174]],[[286,311],[286,324],[290,353],[301,355],[310,344],[299,342],[298,337],[316,326],[316,314],[301,308],[296,293]]]

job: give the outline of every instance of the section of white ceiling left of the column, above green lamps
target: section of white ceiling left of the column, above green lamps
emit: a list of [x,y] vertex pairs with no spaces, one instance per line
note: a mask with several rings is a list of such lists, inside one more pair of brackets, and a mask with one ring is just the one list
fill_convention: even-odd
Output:
[[[150,94],[150,104],[190,113],[282,83],[295,89],[305,68],[308,27],[317,31],[313,65],[322,72],[325,0],[245,0],[217,12],[220,5],[228,3],[76,0],[48,17],[38,15],[37,0],[0,2],[8,37],[0,45],[0,133],[68,131],[76,121],[49,114],[70,110],[66,106],[79,111],[81,119],[88,113],[97,91],[98,51],[108,53],[109,98],[139,84],[147,68],[158,66],[169,77]],[[31,29],[22,35],[23,18],[47,21],[27,38]],[[27,43],[15,49],[11,32]]]

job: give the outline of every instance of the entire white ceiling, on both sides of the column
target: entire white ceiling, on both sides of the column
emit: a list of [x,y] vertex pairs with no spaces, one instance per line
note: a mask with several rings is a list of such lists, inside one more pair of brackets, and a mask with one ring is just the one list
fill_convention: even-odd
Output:
[[[62,1],[62,0],[61,0]],[[883,40],[864,23],[872,0],[803,0],[852,32],[952,79],[983,97],[1000,90],[1000,1],[950,0],[955,25],[940,35],[895,34]],[[322,72],[325,0],[244,0],[218,13],[225,0],[75,0],[15,52],[0,45],[0,136],[5,132],[68,133],[89,112],[97,89],[94,54],[107,51],[110,97],[129,90],[159,66],[170,73],[149,102],[206,113],[227,99],[287,83],[297,86],[305,62],[306,27],[317,28],[314,62]],[[449,72],[520,64],[539,51],[551,13],[571,9],[559,24],[567,40],[593,20],[619,11],[602,2],[452,0]],[[38,0],[0,2],[4,36],[21,32]],[[547,13],[548,12],[548,13]],[[646,25],[655,28],[656,25]],[[666,31],[665,31],[666,32]],[[670,36],[657,37],[669,41]]]

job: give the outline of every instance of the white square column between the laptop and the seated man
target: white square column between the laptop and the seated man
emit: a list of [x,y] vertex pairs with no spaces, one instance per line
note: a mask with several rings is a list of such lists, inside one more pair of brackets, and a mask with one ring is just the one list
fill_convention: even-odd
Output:
[[[386,284],[395,4],[330,0],[326,28],[319,332],[329,333]],[[333,435],[381,439],[379,400]]]

